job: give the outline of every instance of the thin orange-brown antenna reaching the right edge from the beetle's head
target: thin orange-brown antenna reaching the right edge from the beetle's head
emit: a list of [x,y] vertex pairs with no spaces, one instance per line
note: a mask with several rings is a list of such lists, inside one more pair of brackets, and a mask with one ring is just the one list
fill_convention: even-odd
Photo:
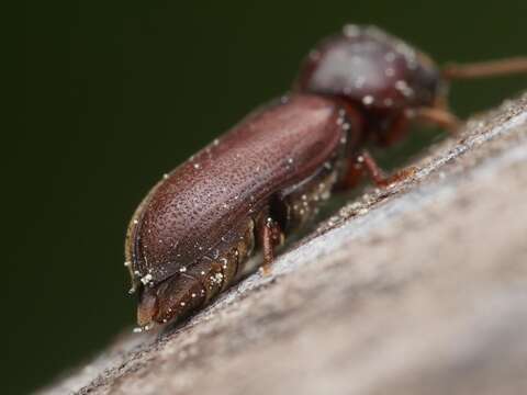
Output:
[[515,74],[527,75],[527,57],[512,57],[464,65],[447,64],[442,68],[442,76],[450,80],[509,76]]

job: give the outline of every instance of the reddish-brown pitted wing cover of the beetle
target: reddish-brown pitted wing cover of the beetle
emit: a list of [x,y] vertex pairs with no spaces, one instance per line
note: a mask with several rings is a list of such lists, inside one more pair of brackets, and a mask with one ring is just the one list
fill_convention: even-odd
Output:
[[132,218],[134,282],[158,283],[210,253],[269,198],[313,174],[346,127],[335,101],[295,94],[257,110],[176,168]]

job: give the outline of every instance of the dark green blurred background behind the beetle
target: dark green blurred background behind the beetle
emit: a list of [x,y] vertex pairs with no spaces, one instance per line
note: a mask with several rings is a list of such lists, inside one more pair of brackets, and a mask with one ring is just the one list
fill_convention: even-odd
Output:
[[[133,325],[133,210],[160,174],[287,90],[318,38],[372,23],[468,61],[526,55],[526,15],[524,0],[26,4],[22,128],[4,131],[1,392],[48,383]],[[525,77],[458,83],[452,106],[468,115],[522,88]]]

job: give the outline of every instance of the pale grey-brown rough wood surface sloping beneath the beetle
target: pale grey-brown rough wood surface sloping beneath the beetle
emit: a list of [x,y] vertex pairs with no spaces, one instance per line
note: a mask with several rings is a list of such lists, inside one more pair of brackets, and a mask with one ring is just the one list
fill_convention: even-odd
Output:
[[433,147],[182,326],[43,393],[527,391],[527,94]]

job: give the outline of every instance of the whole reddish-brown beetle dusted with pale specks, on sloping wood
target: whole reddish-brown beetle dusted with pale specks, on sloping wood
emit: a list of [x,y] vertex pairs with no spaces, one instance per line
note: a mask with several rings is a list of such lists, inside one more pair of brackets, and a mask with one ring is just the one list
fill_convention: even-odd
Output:
[[447,80],[527,71],[527,59],[451,65],[372,26],[346,25],[302,63],[290,93],[264,105],[177,167],[135,211],[125,241],[138,330],[206,305],[304,227],[322,201],[363,176],[391,177],[365,149],[408,124],[456,129]]

